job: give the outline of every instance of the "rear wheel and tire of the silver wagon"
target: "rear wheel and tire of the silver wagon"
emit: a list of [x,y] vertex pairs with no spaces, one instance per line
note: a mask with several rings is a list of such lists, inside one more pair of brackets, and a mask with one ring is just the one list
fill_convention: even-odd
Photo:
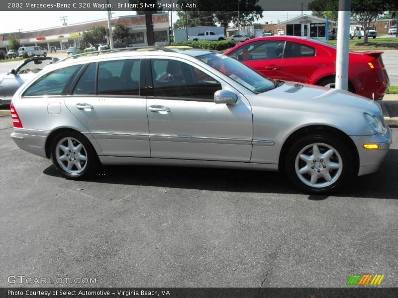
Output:
[[73,180],[90,177],[99,164],[89,140],[74,131],[61,132],[52,140],[51,160],[63,176]]

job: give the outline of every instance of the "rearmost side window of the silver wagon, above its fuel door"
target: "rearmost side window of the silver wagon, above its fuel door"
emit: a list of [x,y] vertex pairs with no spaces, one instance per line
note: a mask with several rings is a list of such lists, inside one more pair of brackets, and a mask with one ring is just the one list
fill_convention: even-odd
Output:
[[73,80],[82,66],[74,65],[55,70],[37,79],[24,93],[23,96],[61,95]]

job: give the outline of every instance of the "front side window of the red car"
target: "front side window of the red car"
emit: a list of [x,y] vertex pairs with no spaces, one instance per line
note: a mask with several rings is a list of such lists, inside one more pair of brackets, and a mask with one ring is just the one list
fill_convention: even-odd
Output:
[[285,41],[281,40],[256,41],[239,47],[228,56],[239,61],[278,59],[282,58],[284,46]]

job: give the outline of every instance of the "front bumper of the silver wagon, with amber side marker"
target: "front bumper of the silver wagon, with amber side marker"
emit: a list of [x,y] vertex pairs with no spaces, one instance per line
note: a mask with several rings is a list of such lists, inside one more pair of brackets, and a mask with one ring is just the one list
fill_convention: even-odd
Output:
[[[386,127],[387,132],[385,134],[376,134],[373,136],[350,136],[358,150],[358,176],[376,172],[383,163],[393,142],[391,129],[387,125]],[[379,149],[365,149],[363,147],[364,144],[378,144]]]

